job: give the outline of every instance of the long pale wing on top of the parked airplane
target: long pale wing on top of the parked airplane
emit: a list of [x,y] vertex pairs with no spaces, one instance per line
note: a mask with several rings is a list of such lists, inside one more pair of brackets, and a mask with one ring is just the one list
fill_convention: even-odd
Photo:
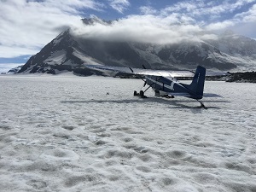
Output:
[[90,69],[103,70],[103,71],[113,71],[117,73],[129,73],[135,75],[154,75],[162,76],[166,78],[176,78],[176,77],[194,77],[194,73],[190,71],[161,71],[161,70],[150,70],[141,68],[131,68],[131,67],[112,67],[112,66],[100,66],[100,65],[84,65]]

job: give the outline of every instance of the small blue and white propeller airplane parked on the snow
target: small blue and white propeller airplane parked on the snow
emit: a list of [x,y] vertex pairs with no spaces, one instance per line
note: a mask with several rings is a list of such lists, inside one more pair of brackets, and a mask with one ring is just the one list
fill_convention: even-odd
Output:
[[[144,95],[150,87],[154,90],[155,96],[164,96],[166,98],[174,98],[174,96],[185,96],[201,103],[201,108],[207,109],[207,107],[200,100],[204,96],[204,84],[206,77],[206,68],[198,66],[195,70],[195,73],[192,71],[160,71],[160,70],[149,70],[131,67],[110,67],[110,66],[101,66],[101,65],[84,65],[90,69],[97,71],[112,71],[116,73],[129,73],[133,75],[140,76],[144,81],[144,85],[148,84],[146,90],[140,90],[137,93],[134,90],[134,96],[141,96],[146,98]],[[191,77],[191,84],[183,84],[177,81],[178,77]],[[212,94],[212,96],[218,96]]]

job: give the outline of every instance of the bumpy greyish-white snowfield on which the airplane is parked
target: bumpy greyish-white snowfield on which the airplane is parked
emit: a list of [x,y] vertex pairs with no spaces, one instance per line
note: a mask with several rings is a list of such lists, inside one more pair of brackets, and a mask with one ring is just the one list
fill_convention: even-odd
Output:
[[143,82],[0,76],[0,191],[256,191],[255,84],[188,98]]

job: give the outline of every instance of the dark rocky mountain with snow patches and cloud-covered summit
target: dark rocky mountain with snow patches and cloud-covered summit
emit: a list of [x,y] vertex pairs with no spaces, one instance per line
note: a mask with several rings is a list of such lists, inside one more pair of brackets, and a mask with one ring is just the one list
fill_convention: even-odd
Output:
[[[84,25],[111,25],[111,21],[84,19]],[[138,67],[152,69],[207,69],[228,71],[256,68],[256,41],[225,32],[214,40],[183,41],[180,44],[143,44],[81,38],[70,30],[33,55],[19,73],[73,73],[91,75],[96,72],[84,64]],[[97,72],[97,74],[99,74]]]

